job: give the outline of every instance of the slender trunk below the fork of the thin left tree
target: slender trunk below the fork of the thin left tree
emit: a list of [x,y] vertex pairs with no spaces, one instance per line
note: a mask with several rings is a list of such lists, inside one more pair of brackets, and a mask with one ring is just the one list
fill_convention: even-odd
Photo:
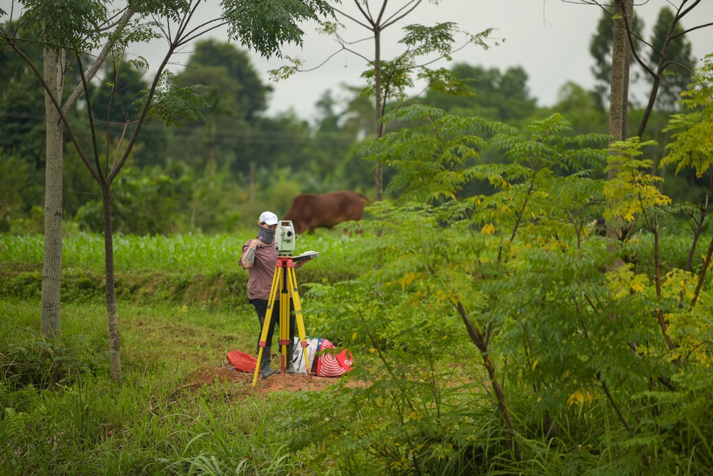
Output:
[[111,184],[101,185],[104,205],[104,265],[106,267],[106,319],[109,326],[109,372],[114,381],[121,379],[121,354],[119,343],[119,318],[116,314],[114,289],[114,243],[111,231]]

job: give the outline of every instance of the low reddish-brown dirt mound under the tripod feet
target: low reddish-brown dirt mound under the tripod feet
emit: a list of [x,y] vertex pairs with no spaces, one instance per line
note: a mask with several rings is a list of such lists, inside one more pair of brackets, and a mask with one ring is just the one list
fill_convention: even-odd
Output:
[[255,388],[252,387],[252,377],[253,373],[239,372],[230,370],[230,368],[212,368],[206,367],[202,368],[200,371],[195,373],[193,378],[191,378],[187,387],[200,387],[207,385],[214,385],[216,382],[229,382],[235,384],[235,386],[240,386],[249,391],[255,393],[271,393],[271,392],[299,392],[302,390],[324,390],[329,386],[337,383],[339,378],[327,378],[327,377],[317,377],[317,376],[306,376],[300,373],[275,373],[272,376],[262,380],[260,376],[257,376],[257,385]]

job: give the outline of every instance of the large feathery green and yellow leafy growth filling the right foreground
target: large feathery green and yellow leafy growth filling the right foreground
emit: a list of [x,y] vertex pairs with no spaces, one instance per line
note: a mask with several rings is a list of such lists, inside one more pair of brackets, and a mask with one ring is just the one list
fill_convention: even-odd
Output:
[[[712,296],[704,284],[705,304],[687,309],[697,277],[663,259],[674,210],[648,173],[645,143],[602,148],[607,135],[572,135],[560,115],[523,131],[424,106],[385,118],[414,127],[363,152],[394,164],[404,200],[373,205],[378,223],[349,228],[366,232],[352,244],[355,259],[379,267],[310,289],[319,328],[364,350],[368,362],[353,378],[373,384],[301,399],[307,413],[289,418],[302,430],[291,443],[332,455],[344,472],[450,474],[443,460],[463,474],[533,465],[566,473],[580,463],[582,472],[580,458],[601,470],[605,452],[617,454],[606,470],[707,471],[709,452],[699,448],[713,434],[704,390]],[[486,147],[511,163],[479,162]],[[605,161],[614,180],[591,179]],[[461,195],[468,180],[497,192]],[[641,239],[630,233],[607,252],[609,239],[588,227],[601,214]],[[390,232],[369,238],[378,228]],[[650,271],[632,259],[643,254]],[[605,271],[617,258],[628,260]],[[558,466],[560,452],[538,460],[568,440],[582,445],[576,463]]]

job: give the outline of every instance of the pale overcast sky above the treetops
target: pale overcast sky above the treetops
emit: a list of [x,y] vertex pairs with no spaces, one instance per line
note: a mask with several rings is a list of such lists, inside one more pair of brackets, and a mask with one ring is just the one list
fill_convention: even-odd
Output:
[[[468,46],[456,53],[454,61],[496,67],[504,71],[511,66],[522,66],[528,73],[530,94],[538,99],[538,105],[553,105],[558,90],[567,81],[575,81],[585,88],[593,86],[590,68],[593,60],[589,53],[589,43],[593,36],[600,9],[597,6],[576,4],[578,0],[441,0],[438,5],[424,0],[421,5],[401,24],[391,26],[382,38],[382,58],[393,58],[404,51],[404,46],[396,44],[401,38],[401,27],[406,24],[432,26],[444,21],[453,21],[469,33],[478,33],[493,28],[492,47],[487,51],[479,46]],[[679,5],[682,0],[635,0],[636,12],[643,19],[645,38],[650,38],[652,26],[663,6]],[[381,0],[369,0],[372,5],[381,5]],[[0,0],[0,8],[9,10],[10,0]],[[342,0],[345,11],[358,15],[352,6],[353,0]],[[692,0],[688,0],[688,4]],[[210,16],[210,9],[217,11],[218,2],[207,0],[204,15]],[[386,13],[393,13],[405,4],[405,0],[391,0]],[[713,22],[713,0],[703,0],[692,14],[684,17],[685,28]],[[347,31],[344,38],[356,41],[368,37],[368,31],[344,20]],[[304,68],[314,68],[339,50],[339,45],[328,36],[314,32],[314,25],[304,25],[307,35],[304,46],[284,48],[287,56],[301,58]],[[224,32],[215,31],[212,37],[225,40]],[[702,58],[713,53],[713,27],[694,31],[688,36],[693,44],[693,53]],[[498,41],[499,46],[495,45]],[[361,43],[365,55],[373,51],[373,42]],[[161,43],[153,43],[140,50],[151,63],[158,63],[163,56]],[[190,51],[190,48],[187,50]],[[176,60],[185,62],[188,55]],[[326,64],[314,71],[297,73],[287,80],[272,82],[267,71],[286,64],[279,58],[266,60],[253,55],[254,66],[263,80],[274,89],[267,113],[273,115],[292,108],[302,118],[312,118],[314,104],[325,90],[331,89],[334,96],[344,97],[340,85],[360,85],[359,78],[366,68],[363,58],[342,52],[332,57]],[[447,63],[443,63],[447,66]],[[440,66],[440,65],[436,65]],[[180,66],[174,67],[180,70]]]

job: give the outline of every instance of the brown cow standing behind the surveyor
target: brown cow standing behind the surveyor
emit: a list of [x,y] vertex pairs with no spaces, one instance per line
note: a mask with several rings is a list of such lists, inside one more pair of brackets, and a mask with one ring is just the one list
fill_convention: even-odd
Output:
[[331,229],[347,220],[361,219],[364,215],[364,202],[371,203],[371,200],[350,190],[297,195],[292,200],[289,212],[282,219],[291,221],[296,233],[312,233],[315,228]]

